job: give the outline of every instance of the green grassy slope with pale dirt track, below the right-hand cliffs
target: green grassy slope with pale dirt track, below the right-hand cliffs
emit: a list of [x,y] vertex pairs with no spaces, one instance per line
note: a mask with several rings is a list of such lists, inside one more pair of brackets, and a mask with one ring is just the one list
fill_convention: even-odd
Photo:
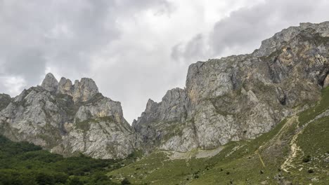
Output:
[[[250,141],[230,142],[212,158],[172,160],[155,151],[114,170],[133,184],[329,184],[329,88],[314,107]],[[329,115],[329,114],[328,114]]]

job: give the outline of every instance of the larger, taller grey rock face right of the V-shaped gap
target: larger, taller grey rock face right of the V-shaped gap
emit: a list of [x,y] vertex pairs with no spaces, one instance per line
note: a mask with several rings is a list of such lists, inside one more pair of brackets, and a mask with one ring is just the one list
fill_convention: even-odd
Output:
[[316,102],[329,84],[329,22],[283,29],[249,55],[191,64],[185,89],[148,101],[133,128],[146,150],[253,139]]

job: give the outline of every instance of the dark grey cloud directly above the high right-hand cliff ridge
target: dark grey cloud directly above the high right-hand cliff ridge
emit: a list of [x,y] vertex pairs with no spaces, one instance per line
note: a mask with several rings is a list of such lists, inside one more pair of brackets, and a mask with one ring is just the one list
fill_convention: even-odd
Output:
[[[240,8],[228,17],[219,20],[214,25],[213,31],[204,37],[203,41],[191,41],[177,52],[177,46],[173,46],[172,57],[177,55],[188,60],[191,57],[200,56],[198,60],[204,60],[203,56],[217,57],[224,55],[237,55],[250,53],[259,48],[262,40],[267,39],[285,27],[299,25],[299,22],[323,22],[328,20],[327,9],[329,1],[311,0],[278,0],[264,1],[250,8]],[[200,44],[201,43],[201,44]],[[198,45],[198,53],[189,53],[191,45]]]

